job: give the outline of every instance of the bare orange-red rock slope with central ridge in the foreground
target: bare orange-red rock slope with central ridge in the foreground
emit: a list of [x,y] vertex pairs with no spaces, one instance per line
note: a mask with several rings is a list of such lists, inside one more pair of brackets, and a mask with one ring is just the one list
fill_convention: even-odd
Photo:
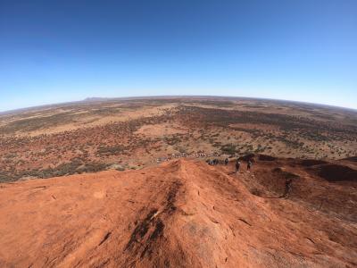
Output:
[[353,267],[356,181],[320,169],[179,160],[0,184],[0,266]]

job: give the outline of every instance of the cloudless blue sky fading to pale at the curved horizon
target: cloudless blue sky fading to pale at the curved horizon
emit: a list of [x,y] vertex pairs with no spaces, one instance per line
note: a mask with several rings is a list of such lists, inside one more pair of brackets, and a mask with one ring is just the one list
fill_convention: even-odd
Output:
[[0,111],[158,95],[357,108],[357,1],[0,0]]

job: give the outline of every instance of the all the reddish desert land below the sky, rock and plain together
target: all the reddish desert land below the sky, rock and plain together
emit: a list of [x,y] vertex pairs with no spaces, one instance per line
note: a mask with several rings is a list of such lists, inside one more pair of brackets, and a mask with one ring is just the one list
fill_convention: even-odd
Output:
[[355,267],[356,155],[357,112],[326,105],[167,96],[0,113],[0,266]]

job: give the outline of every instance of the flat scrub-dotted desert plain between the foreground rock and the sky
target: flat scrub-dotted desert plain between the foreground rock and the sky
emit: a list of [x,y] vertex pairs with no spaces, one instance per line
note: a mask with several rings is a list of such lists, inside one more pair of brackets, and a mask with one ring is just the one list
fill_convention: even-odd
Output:
[[0,181],[170,158],[247,154],[341,159],[357,155],[357,112],[224,97],[92,99],[0,116]]

